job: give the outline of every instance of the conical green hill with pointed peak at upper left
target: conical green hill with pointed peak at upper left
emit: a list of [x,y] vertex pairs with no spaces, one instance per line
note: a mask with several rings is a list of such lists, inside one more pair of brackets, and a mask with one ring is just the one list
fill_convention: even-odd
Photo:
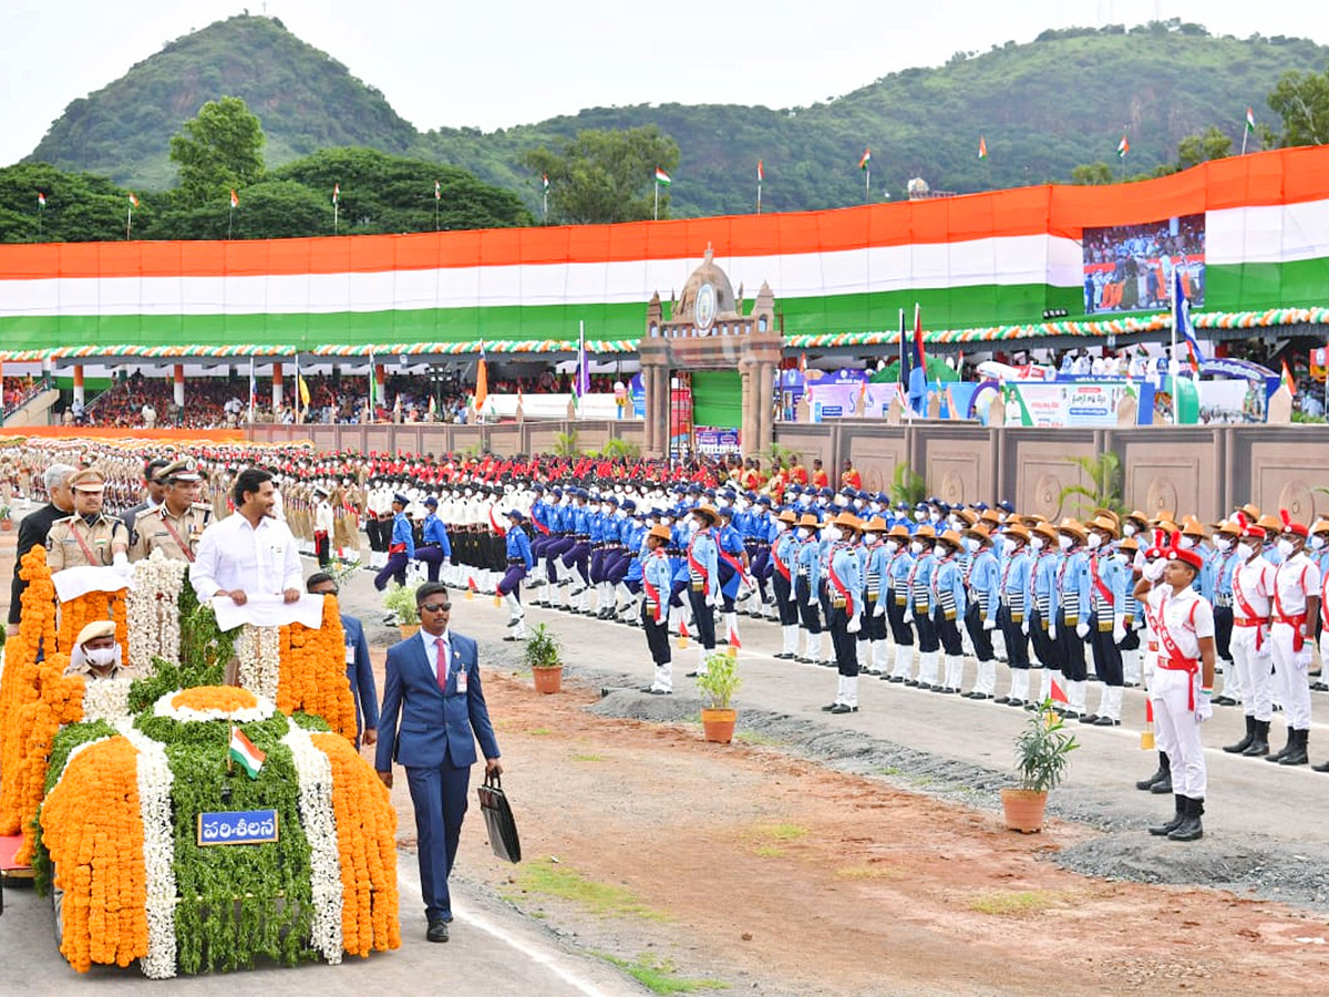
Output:
[[268,167],[335,146],[404,153],[416,138],[381,93],[279,20],[237,16],[177,39],[73,101],[28,161],[167,187],[175,181],[170,137],[218,97],[241,97],[258,114]]

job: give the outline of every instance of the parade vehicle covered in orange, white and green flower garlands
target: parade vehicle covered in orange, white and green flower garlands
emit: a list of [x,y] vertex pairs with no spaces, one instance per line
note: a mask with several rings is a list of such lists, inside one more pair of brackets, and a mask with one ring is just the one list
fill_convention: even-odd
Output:
[[[54,895],[61,953],[165,978],[397,948],[396,815],[354,744],[336,598],[219,621],[186,569],[21,562],[0,835]],[[116,667],[88,667],[100,633]]]

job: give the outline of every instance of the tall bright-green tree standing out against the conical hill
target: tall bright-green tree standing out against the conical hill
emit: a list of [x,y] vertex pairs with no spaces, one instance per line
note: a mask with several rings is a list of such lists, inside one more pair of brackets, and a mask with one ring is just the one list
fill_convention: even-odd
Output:
[[170,140],[181,199],[207,205],[256,183],[263,177],[263,141],[258,116],[239,97],[205,104]]

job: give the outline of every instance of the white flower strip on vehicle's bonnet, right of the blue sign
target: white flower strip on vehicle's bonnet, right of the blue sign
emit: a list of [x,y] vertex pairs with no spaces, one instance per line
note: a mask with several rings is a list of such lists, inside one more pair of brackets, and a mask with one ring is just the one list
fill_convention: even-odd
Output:
[[310,841],[310,885],[314,927],[310,944],[331,965],[342,961],[342,863],[332,810],[332,762],[314,746],[310,732],[291,724],[282,743],[291,750],[300,782],[300,820]]

